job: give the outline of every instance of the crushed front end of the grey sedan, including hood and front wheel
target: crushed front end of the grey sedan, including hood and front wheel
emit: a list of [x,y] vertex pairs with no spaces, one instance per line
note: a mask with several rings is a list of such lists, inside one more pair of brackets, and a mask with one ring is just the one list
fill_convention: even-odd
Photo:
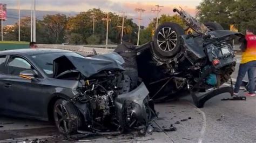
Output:
[[[53,77],[78,81],[75,96],[69,102],[55,104],[54,118],[60,132],[70,134],[81,128],[82,133],[96,134],[130,130],[140,135],[152,133],[150,124],[156,113],[149,91],[144,83],[130,90],[131,80],[122,73],[123,64],[117,53],[87,58],[62,56],[53,61]],[[68,123],[63,114],[68,115]]]

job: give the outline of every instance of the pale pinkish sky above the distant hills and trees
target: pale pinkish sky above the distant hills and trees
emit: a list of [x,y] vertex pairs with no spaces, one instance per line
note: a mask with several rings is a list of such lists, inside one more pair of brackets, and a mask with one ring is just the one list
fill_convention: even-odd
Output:
[[[129,18],[137,18],[138,13],[134,11],[135,8],[145,9],[143,14],[143,23],[150,21],[150,18],[154,18],[156,13],[151,12],[151,8],[155,8],[154,5],[163,5],[160,14],[173,15],[172,9],[174,7],[181,6],[191,15],[196,14],[196,6],[202,0],[36,0],[36,9],[44,11],[60,11],[60,12],[80,12],[86,11],[92,8],[100,8],[103,11],[111,11],[118,13],[119,11],[126,12]],[[7,4],[9,9],[17,9],[18,0],[0,0],[0,3]],[[30,9],[31,0],[21,0],[21,9]]]

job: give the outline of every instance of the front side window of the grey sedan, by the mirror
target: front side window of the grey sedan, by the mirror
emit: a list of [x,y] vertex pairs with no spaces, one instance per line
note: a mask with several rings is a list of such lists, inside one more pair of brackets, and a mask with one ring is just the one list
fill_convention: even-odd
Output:
[[8,60],[8,74],[19,75],[24,70],[32,70],[31,64],[21,57],[11,56]]

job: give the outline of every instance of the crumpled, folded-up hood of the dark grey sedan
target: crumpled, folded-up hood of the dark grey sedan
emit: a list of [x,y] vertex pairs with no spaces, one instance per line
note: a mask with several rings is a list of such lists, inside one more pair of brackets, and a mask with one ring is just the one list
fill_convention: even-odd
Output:
[[53,77],[60,73],[78,70],[86,78],[105,70],[124,71],[124,59],[116,52],[93,57],[62,56],[53,60]]

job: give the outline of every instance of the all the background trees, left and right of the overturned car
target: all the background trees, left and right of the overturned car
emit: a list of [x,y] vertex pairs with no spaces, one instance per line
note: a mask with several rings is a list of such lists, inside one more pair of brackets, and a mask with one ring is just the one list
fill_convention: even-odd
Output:
[[[230,25],[244,32],[247,26],[256,29],[256,1],[255,0],[203,0],[197,6],[196,17],[200,22],[218,22],[224,29],[230,29]],[[95,15],[95,32],[93,33],[92,16]],[[62,14],[46,15],[43,19],[37,19],[36,32],[37,43],[43,44],[105,44],[106,43],[106,17],[100,9],[91,9],[80,12],[76,16]],[[118,44],[121,40],[122,17],[116,13],[109,13],[109,44]],[[137,43],[138,25],[131,18],[125,18],[124,34],[132,37],[132,43]],[[140,44],[152,40],[152,32],[156,29],[156,18],[146,28],[142,26],[140,32]],[[185,23],[178,15],[161,15],[159,24],[164,22],[176,22],[185,28]],[[18,39],[18,24],[12,28],[4,28],[4,40]],[[21,40],[30,41],[30,17],[21,19]]]

